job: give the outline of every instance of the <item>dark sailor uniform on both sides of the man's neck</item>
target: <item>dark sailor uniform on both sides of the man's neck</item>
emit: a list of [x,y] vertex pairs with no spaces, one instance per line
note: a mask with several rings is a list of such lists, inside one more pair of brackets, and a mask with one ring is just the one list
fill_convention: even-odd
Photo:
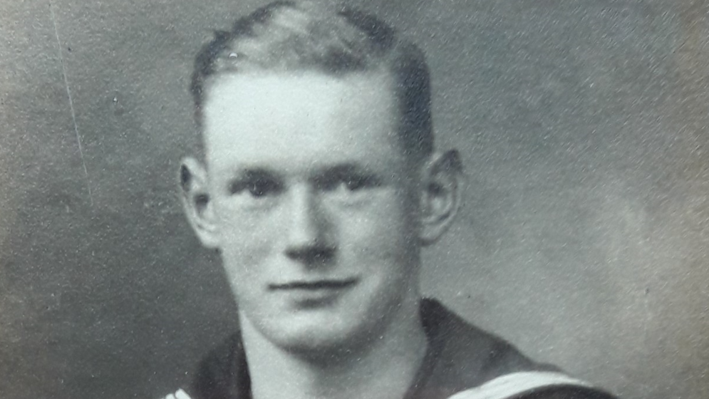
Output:
[[[428,352],[404,399],[445,399],[512,373],[557,371],[552,366],[534,363],[509,343],[463,321],[438,301],[423,299],[420,311]],[[251,399],[249,371],[239,333],[202,360],[189,393],[193,399]],[[509,399],[613,399],[601,390],[573,383],[504,395]]]

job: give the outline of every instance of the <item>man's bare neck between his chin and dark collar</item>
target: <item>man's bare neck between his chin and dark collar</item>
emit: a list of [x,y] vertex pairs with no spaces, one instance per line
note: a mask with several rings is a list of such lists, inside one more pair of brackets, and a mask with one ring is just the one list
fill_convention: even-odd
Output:
[[[418,299],[402,306],[381,337],[360,351],[296,356],[264,338],[242,317],[254,399],[402,399],[425,356]],[[413,313],[412,313],[413,311]]]

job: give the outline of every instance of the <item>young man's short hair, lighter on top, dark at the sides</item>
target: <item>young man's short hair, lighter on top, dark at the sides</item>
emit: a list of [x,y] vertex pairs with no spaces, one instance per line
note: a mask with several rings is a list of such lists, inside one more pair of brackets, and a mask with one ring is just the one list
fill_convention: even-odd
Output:
[[201,135],[209,84],[222,74],[319,71],[343,76],[382,68],[393,76],[404,153],[423,159],[433,152],[430,76],[423,51],[381,19],[349,6],[275,1],[237,20],[230,31],[216,31],[195,58],[190,85],[195,123]]

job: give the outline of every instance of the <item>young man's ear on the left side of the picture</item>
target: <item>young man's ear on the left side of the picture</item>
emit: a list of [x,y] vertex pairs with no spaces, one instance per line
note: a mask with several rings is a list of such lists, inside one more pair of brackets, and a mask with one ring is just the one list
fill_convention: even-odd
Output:
[[207,170],[202,162],[186,157],[180,162],[180,197],[187,221],[202,245],[219,247],[219,234],[214,224],[214,212],[207,190]]

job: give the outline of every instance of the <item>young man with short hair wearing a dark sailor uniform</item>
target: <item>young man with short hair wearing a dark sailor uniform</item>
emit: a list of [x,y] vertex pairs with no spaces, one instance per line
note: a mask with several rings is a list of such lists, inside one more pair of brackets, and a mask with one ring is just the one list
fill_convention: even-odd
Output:
[[434,150],[412,43],[359,11],[276,2],[202,48],[192,93],[183,200],[240,325],[192,398],[607,397],[421,299],[460,165]]

